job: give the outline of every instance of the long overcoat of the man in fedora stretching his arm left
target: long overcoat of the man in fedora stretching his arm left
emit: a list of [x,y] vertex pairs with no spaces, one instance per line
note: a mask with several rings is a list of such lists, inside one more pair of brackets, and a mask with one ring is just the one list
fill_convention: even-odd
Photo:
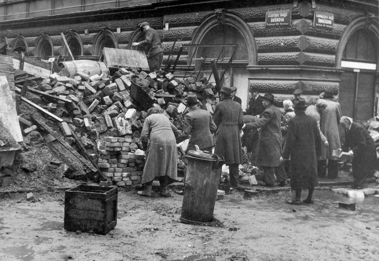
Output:
[[278,167],[282,154],[280,132],[281,117],[279,108],[270,104],[256,122],[246,123],[246,130],[260,128],[258,148],[251,160],[257,166]]

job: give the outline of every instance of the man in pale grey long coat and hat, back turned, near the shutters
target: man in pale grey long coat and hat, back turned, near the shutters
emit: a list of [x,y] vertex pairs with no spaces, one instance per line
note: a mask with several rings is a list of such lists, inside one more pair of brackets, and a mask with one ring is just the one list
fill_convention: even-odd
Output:
[[[325,135],[329,146],[322,147],[320,160],[318,161],[318,177],[326,176],[326,169],[328,178],[337,178],[338,176],[338,160],[332,156],[333,150],[341,147],[340,136],[338,134],[338,123],[342,117],[340,103],[332,101],[334,98],[333,92],[325,91],[323,95],[326,102],[326,109],[320,113],[320,129]],[[326,160],[328,164],[326,164]]]

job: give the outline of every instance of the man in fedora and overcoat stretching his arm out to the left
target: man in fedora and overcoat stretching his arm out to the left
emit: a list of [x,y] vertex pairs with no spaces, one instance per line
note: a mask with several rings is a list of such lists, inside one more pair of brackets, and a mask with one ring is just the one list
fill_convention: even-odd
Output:
[[[251,159],[257,166],[263,167],[265,182],[268,186],[274,186],[277,183],[285,185],[284,167],[280,163],[282,152],[282,133],[280,130],[282,114],[279,108],[273,105],[273,94],[266,93],[262,98],[265,111],[263,111],[260,119],[244,125],[244,131],[260,128],[258,148],[255,152],[255,157],[252,155]],[[275,176],[277,178],[276,182]]]

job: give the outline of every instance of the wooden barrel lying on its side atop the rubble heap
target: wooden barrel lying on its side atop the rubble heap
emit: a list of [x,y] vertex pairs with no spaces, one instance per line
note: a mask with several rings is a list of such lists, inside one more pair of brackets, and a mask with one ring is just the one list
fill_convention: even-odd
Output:
[[91,61],[91,60],[75,60],[62,62],[64,68],[69,73],[75,74],[76,72],[84,72],[88,75],[102,74],[109,75],[109,69],[106,63]]

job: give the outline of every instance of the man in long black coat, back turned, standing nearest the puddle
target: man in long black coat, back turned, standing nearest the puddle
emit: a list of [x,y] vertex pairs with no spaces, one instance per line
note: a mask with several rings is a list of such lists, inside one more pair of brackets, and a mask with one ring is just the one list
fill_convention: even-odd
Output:
[[[317,157],[321,147],[317,120],[305,114],[307,102],[304,98],[294,99],[296,116],[289,120],[287,138],[281,160],[291,157],[291,189],[296,191],[290,204],[313,203],[313,191],[318,185]],[[308,197],[301,201],[302,189],[308,189]]]

